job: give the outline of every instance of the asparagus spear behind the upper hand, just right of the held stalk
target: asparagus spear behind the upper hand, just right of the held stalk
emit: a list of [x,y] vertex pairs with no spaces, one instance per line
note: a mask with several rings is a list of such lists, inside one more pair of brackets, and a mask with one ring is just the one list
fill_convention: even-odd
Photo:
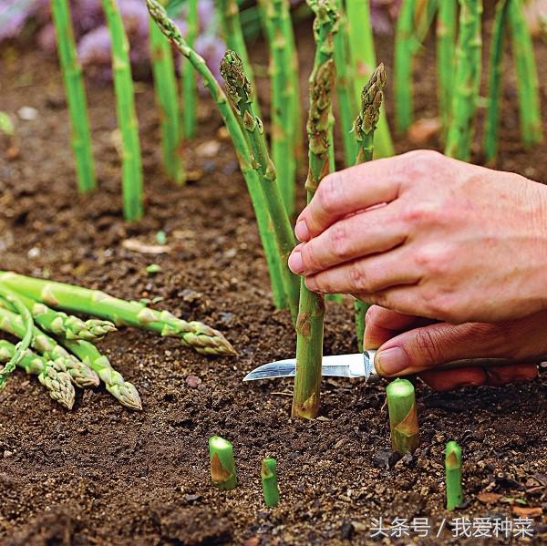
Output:
[[[353,131],[358,144],[356,164],[372,160],[374,154],[374,135],[380,117],[380,107],[384,99],[383,89],[386,86],[386,69],[384,63],[374,71],[361,94],[361,111],[356,118]],[[356,335],[359,351],[363,351],[365,335],[365,316],[370,304],[361,300],[355,301]]]

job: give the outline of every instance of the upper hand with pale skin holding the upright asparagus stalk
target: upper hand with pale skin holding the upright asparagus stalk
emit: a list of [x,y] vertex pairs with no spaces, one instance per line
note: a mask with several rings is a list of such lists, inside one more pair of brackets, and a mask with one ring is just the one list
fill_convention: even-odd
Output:
[[[387,204],[386,204],[387,203]],[[547,307],[547,187],[430,150],[331,174],[289,266],[310,290],[497,322]]]

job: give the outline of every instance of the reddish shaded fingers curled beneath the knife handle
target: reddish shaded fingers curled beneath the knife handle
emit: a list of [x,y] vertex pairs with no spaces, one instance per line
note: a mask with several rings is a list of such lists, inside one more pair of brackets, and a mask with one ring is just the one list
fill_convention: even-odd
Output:
[[532,381],[538,376],[538,366],[522,364],[490,368],[470,367],[445,371],[428,371],[419,375],[431,388],[439,391],[463,386],[503,386],[518,381]]

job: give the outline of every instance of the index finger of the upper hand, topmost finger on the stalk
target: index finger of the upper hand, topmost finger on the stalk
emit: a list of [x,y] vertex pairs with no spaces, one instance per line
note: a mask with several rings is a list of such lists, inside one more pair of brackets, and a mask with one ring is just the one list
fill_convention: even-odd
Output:
[[397,157],[369,161],[327,175],[296,221],[298,240],[309,241],[348,214],[397,199],[398,161]]

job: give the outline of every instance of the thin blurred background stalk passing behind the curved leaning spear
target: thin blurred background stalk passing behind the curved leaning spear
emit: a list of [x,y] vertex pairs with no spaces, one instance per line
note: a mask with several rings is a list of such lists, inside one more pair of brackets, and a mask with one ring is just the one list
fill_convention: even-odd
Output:
[[[186,41],[193,47],[198,36],[200,21],[198,14],[198,0],[188,0],[188,14],[186,16]],[[184,136],[193,139],[196,136],[196,111],[198,91],[196,87],[196,72],[191,62],[182,59],[182,119]]]

